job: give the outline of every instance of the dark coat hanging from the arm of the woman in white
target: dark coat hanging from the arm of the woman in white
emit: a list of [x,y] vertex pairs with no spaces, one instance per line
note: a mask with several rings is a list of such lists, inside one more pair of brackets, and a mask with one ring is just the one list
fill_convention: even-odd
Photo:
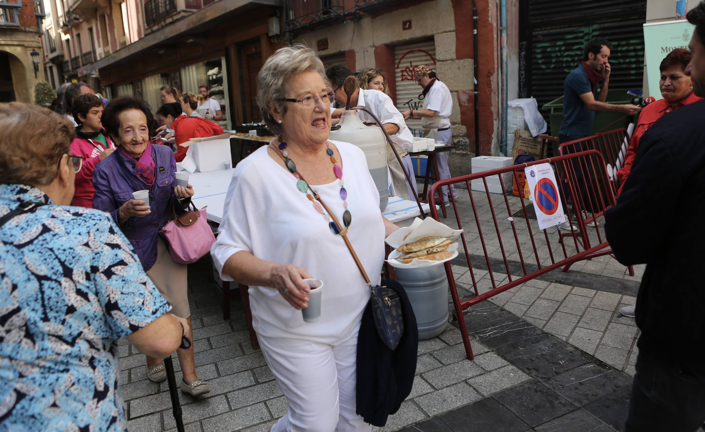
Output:
[[396,350],[379,339],[372,317],[372,302],[362,314],[357,336],[357,414],[374,426],[384,426],[387,417],[398,411],[411,393],[416,374],[419,329],[409,297],[396,280],[383,285],[395,290],[401,299],[404,333]]

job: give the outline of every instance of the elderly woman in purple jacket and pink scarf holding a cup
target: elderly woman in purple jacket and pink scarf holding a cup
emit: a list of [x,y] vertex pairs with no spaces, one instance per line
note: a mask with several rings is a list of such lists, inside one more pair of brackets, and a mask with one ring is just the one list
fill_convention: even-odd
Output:
[[[173,152],[149,142],[154,135],[149,130],[152,121],[152,111],[141,99],[118,97],[106,106],[102,123],[118,149],[93,171],[93,208],[111,214],[135,248],[147,275],[171,304],[171,313],[188,318],[190,327],[187,266],[171,260],[159,230],[166,225],[170,203],[179,214],[188,209],[193,187],[176,186]],[[149,190],[149,205],[133,198],[138,190]],[[186,336],[192,339],[192,332]],[[183,371],[181,391],[194,396],[208,393],[209,385],[196,376],[193,344],[177,353]],[[161,359],[147,356],[147,378],[155,383],[166,379]]]

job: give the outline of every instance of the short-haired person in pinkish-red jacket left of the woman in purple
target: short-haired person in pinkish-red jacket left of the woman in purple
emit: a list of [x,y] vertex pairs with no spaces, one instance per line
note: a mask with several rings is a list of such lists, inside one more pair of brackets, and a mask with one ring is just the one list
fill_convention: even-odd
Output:
[[71,104],[73,118],[78,126],[71,142],[71,154],[83,157],[81,171],[76,174],[72,206],[93,206],[93,170],[99,161],[116,149],[115,143],[103,129],[103,101],[95,94],[79,94]]

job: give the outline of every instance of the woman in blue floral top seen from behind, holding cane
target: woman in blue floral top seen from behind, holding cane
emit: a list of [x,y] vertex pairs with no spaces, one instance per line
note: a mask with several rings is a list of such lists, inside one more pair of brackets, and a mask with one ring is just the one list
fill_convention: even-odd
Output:
[[188,323],[109,214],[70,206],[71,123],[13,102],[0,130],[0,431],[125,431],[117,340],[163,358]]

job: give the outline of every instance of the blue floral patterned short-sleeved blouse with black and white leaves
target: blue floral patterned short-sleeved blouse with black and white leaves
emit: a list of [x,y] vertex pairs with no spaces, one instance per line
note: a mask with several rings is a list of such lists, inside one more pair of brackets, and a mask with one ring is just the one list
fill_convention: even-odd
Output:
[[118,338],[171,307],[109,214],[0,185],[0,431],[124,431]]

